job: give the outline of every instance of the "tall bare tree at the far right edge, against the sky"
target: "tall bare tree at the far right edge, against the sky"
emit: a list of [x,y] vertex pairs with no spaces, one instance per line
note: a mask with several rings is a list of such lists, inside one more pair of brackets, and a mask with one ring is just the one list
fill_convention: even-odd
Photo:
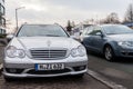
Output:
[[133,21],[133,4],[131,3],[126,10],[124,22]]

